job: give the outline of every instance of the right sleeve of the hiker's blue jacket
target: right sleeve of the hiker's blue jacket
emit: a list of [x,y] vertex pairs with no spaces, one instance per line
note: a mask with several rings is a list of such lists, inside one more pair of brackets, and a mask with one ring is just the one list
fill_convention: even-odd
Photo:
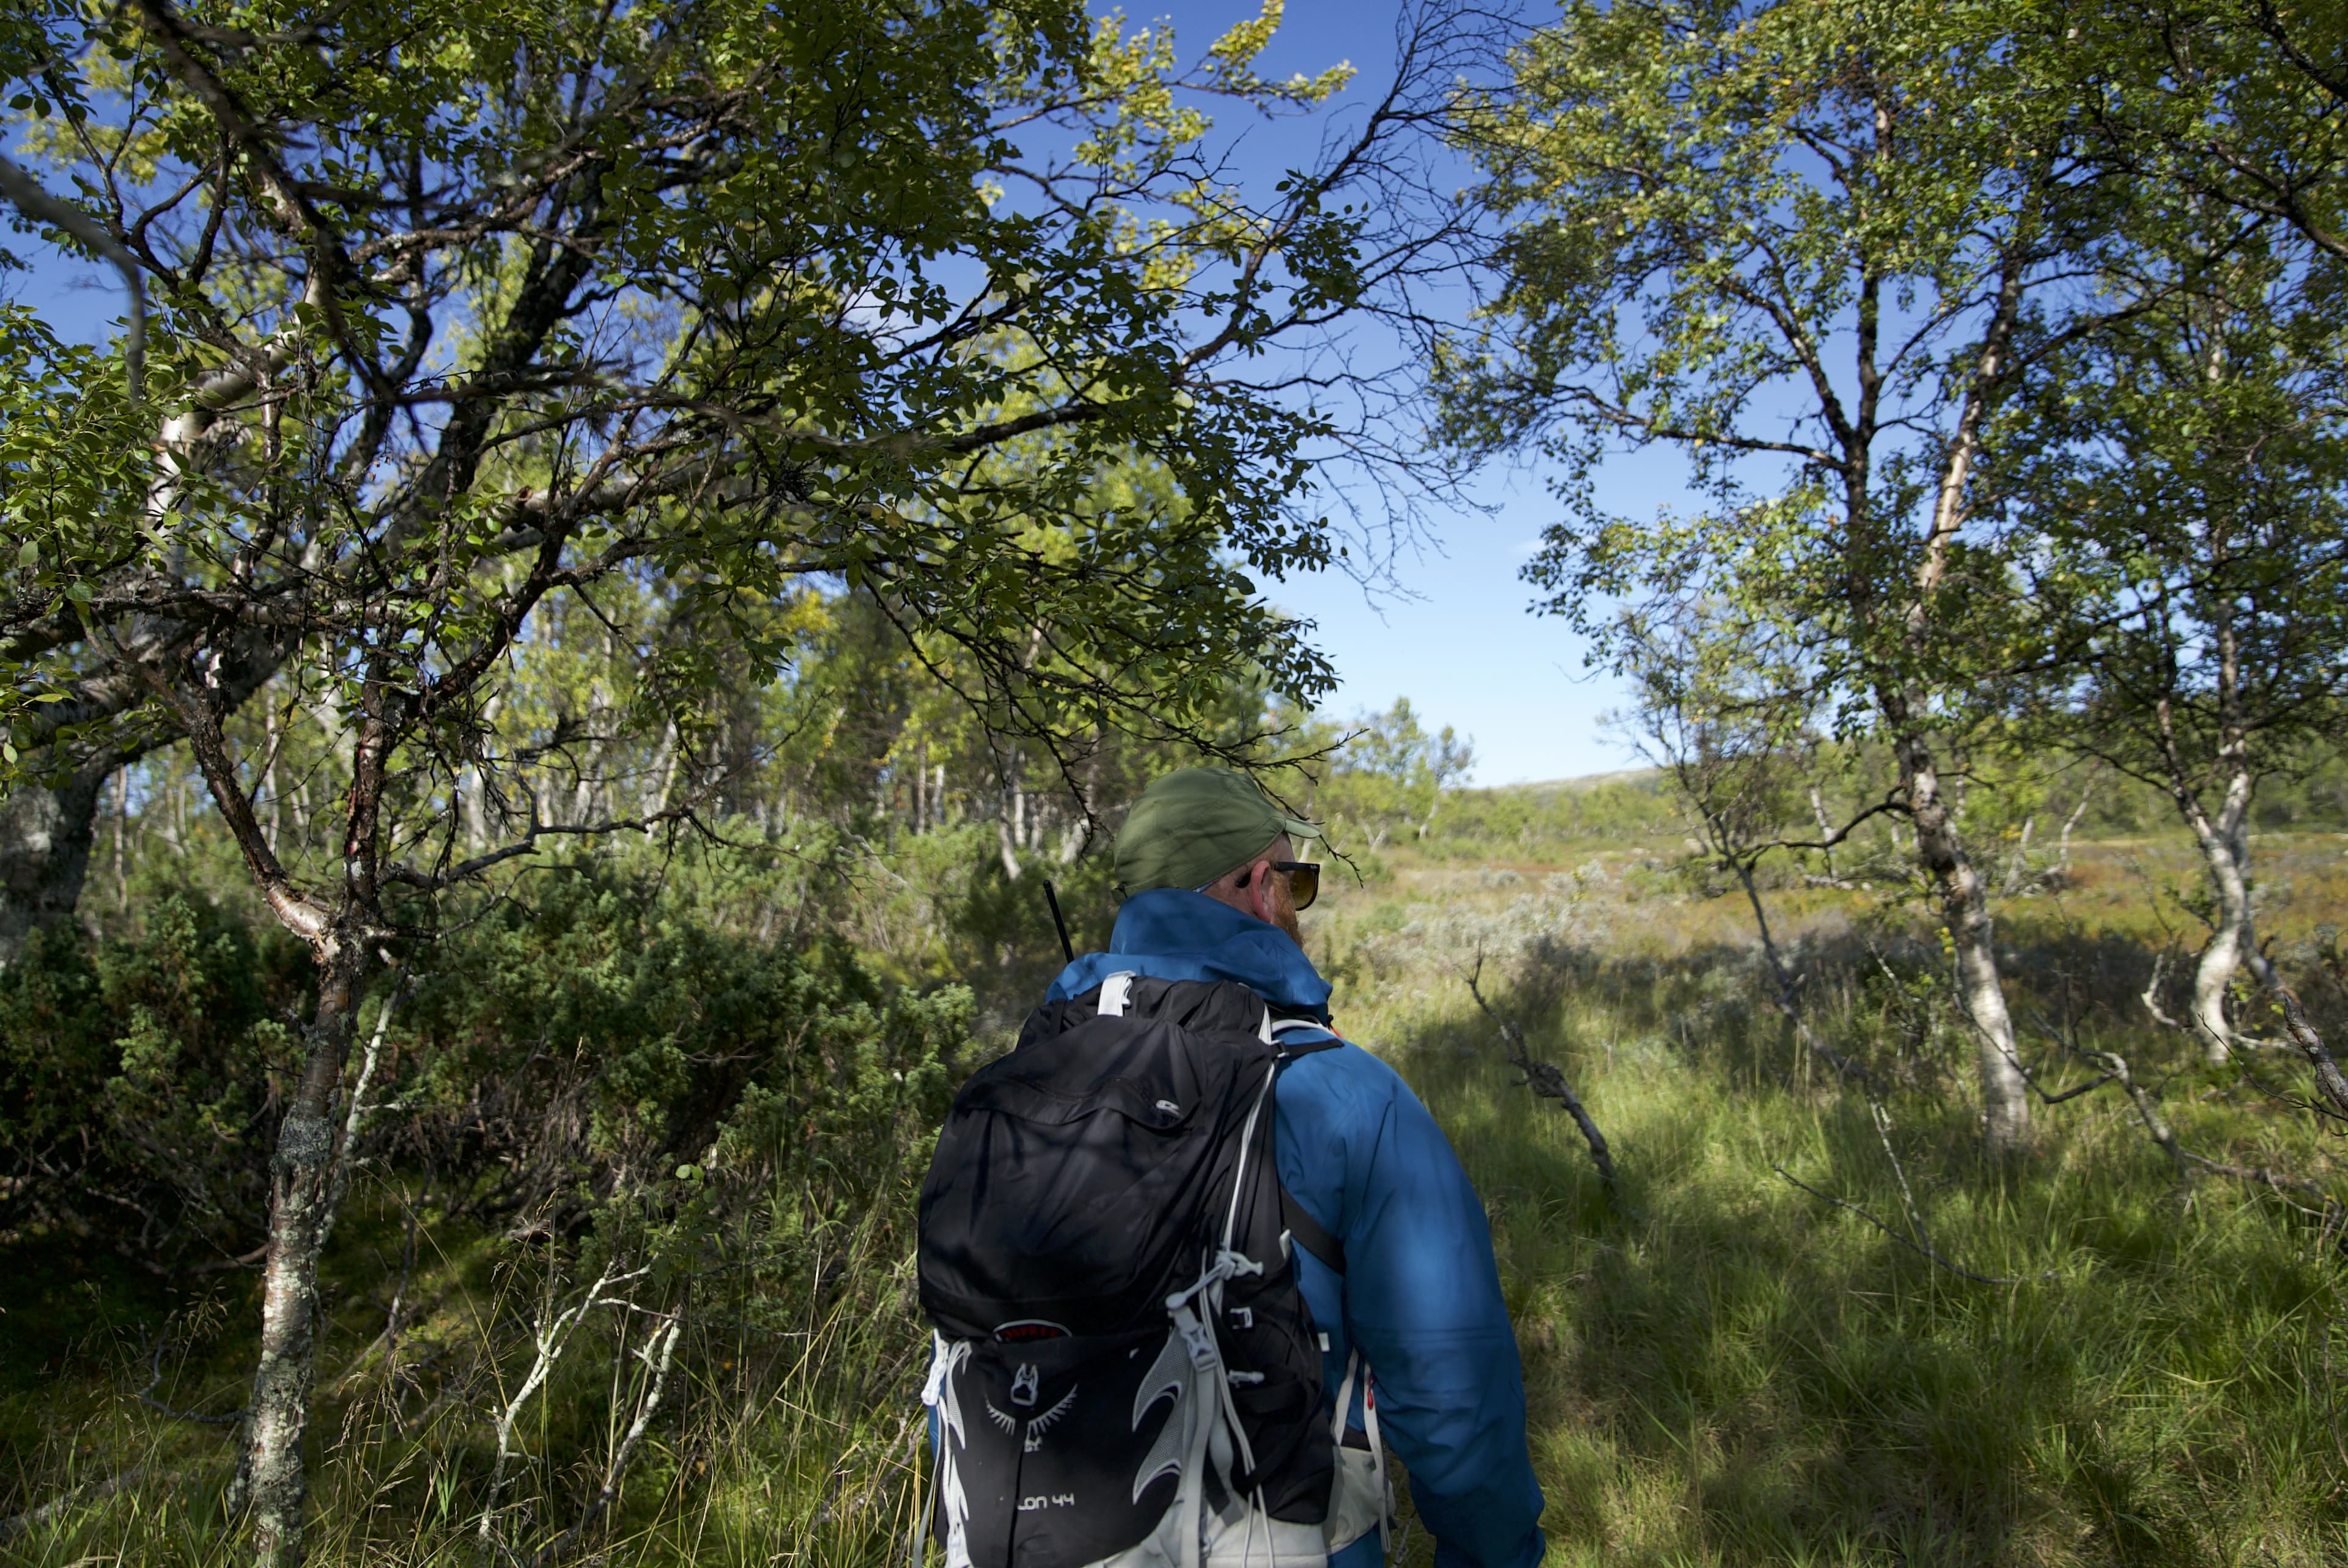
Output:
[[[1298,1073],[1320,1080],[1317,1091],[1291,1094]],[[1298,1061],[1282,1080],[1282,1120],[1296,1113],[1298,1153],[1320,1167],[1305,1185],[1322,1202],[1296,1197],[1338,1209],[1315,1218],[1345,1244],[1345,1331],[1376,1380],[1381,1434],[1435,1530],[1437,1568],[1533,1568],[1545,1542],[1524,1366],[1468,1171],[1409,1084],[1369,1052]],[[1329,1181],[1331,1164],[1341,1181]]]

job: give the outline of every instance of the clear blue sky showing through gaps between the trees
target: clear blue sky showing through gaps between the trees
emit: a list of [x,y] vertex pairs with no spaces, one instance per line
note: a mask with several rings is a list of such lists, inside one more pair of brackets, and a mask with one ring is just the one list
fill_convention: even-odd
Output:
[[[1259,0],[1143,0],[1125,14],[1129,26],[1169,21],[1183,59],[1195,59],[1256,7]],[[1359,75],[1343,99],[1362,99],[1390,70],[1395,12],[1397,0],[1289,0],[1261,68],[1284,77],[1350,61]],[[1310,160],[1320,129],[1315,122],[1244,124],[1235,115],[1219,124],[1223,134],[1244,131],[1237,171],[1266,188]],[[1465,169],[1460,178],[1465,183]],[[99,270],[59,263],[54,251],[33,254],[47,265],[9,279],[12,291],[63,333],[106,336],[122,310],[120,284]],[[1266,584],[1284,610],[1317,622],[1315,641],[1343,681],[1327,709],[1343,718],[1409,697],[1425,721],[1472,737],[1479,784],[1637,765],[1630,746],[1604,725],[1604,714],[1622,704],[1622,685],[1583,667],[1583,643],[1564,622],[1533,615],[1533,594],[1517,577],[1557,514],[1543,477],[1479,474],[1472,493],[1493,509],[1428,519],[1435,538],[1399,559],[1399,592],[1371,596],[1343,573]],[[1676,495],[1679,469],[1665,455],[1615,462],[1601,479],[1601,502],[1613,512],[1648,512]]]

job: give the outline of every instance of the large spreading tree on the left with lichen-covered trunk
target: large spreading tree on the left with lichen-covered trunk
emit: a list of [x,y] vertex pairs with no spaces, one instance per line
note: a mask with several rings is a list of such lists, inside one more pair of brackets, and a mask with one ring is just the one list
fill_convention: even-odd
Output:
[[[1331,378],[1261,354],[1442,244],[1362,232],[1409,197],[1364,200],[1446,56],[1259,202],[1216,174],[1207,106],[1310,108],[1350,75],[1261,77],[1275,23],[1188,68],[1071,0],[139,0],[19,38],[19,108],[80,200],[52,237],[127,256],[153,315],[136,371],[131,338],[0,322],[5,779],[185,737],[319,969],[244,1467],[265,1561],[301,1554],[369,972],[547,836],[716,798],[728,711],[803,653],[803,584],[859,596],[1064,772],[1106,730],[1230,746],[1240,669],[1327,690],[1259,580],[1331,559],[1308,502]],[[606,697],[500,702],[589,622],[627,667]],[[296,718],[340,796],[310,864],[254,807]],[[582,749],[653,737],[657,786],[556,800]]]

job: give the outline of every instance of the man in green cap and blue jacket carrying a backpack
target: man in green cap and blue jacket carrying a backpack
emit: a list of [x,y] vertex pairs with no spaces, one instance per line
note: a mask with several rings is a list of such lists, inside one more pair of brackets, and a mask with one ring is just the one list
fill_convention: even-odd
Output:
[[1381,1439],[1442,1568],[1543,1556],[1484,1207],[1327,1028],[1303,838],[1237,772],[1151,784],[1108,951],[956,1101],[920,1242],[949,1568],[1374,1568]]

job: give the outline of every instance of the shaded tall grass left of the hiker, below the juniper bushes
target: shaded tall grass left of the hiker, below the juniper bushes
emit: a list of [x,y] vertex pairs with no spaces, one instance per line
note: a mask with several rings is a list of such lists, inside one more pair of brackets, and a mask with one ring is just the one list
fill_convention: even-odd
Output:
[[[747,1282],[728,1300],[704,1289],[686,1312],[667,1390],[632,1455],[592,1552],[657,1563],[873,1563],[913,1528],[918,1354],[902,1195],[815,1237],[810,1275]],[[364,1331],[380,1312],[352,1303],[329,1333],[324,1411],[312,1448],[312,1561],[481,1563],[538,1559],[608,1479],[629,1413],[648,1394],[641,1312],[601,1310],[519,1406],[510,1486],[484,1545],[495,1415],[535,1361],[531,1329],[585,1279],[552,1261],[491,1268],[491,1249],[444,1253],[418,1270],[427,1310],[385,1352]],[[777,1289],[780,1286],[780,1289]],[[218,1317],[218,1312],[207,1312]],[[218,1408],[237,1397],[244,1338],[174,1322],[160,1359],[169,1401]],[[200,1427],[139,1399],[150,1357],[87,1343],[80,1376],[9,1397],[19,1495],[77,1507],[19,1528],[12,1563],[209,1566],[244,1556],[221,1495],[235,1427]],[[204,1394],[211,1394],[204,1399]],[[129,1483],[96,1493],[94,1481]]]

